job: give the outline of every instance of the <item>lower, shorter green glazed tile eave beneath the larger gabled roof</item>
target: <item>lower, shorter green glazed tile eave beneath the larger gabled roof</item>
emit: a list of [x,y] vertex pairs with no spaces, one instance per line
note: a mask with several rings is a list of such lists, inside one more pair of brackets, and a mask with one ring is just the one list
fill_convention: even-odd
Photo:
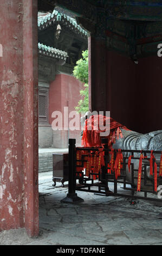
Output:
[[42,53],[49,57],[55,57],[55,58],[64,59],[64,60],[66,60],[68,57],[67,52],[58,50],[58,49],[50,47],[50,46],[40,44],[40,42],[38,42],[38,51],[39,51],[39,53]]

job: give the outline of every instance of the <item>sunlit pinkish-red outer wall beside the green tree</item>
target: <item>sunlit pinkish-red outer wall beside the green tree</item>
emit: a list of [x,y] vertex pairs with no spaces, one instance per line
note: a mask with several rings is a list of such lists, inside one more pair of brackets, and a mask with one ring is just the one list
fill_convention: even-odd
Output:
[[[51,118],[51,114],[54,111],[61,111],[63,120],[64,107],[69,107],[69,112],[75,111],[74,107],[77,106],[81,99],[80,90],[83,88],[83,84],[73,76],[64,74],[56,75],[55,80],[50,83],[49,88],[49,124],[52,124],[54,120],[54,118]],[[76,145],[81,143],[80,131],[69,131],[69,133],[67,131],[60,131],[60,133],[57,132],[56,134],[57,139],[60,136],[61,140],[60,143],[54,144],[57,148],[66,148],[68,137],[76,138]]]

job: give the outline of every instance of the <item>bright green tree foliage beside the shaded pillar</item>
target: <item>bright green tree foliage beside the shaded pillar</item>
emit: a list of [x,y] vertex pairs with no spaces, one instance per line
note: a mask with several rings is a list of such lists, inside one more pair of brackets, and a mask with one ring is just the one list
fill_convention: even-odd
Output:
[[84,83],[84,90],[80,90],[82,99],[78,102],[76,111],[87,112],[89,109],[89,89],[88,89],[88,50],[82,52],[82,58],[76,62],[73,71],[74,77]]

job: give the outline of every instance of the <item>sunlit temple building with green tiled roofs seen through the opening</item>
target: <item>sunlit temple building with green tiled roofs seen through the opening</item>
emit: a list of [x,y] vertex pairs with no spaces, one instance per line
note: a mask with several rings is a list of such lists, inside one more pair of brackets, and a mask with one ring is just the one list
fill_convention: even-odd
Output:
[[73,137],[81,145],[80,131],[53,131],[51,115],[61,111],[64,118],[64,107],[75,111],[84,87],[73,70],[87,48],[87,31],[63,9],[38,13],[39,148],[68,148]]

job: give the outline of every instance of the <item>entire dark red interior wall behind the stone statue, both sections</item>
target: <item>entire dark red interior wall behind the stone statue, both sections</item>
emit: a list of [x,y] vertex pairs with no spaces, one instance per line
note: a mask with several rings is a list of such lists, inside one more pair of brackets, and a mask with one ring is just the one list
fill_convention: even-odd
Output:
[[107,51],[107,110],[129,129],[146,133],[162,129],[162,58],[139,59]]

